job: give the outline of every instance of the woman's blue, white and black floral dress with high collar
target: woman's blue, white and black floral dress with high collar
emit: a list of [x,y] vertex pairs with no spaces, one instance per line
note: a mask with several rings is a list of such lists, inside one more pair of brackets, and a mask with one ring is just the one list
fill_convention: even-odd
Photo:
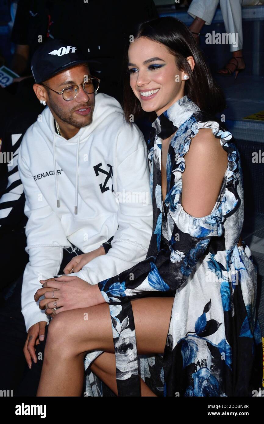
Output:
[[[110,308],[118,396],[140,396],[139,376],[157,396],[253,396],[261,387],[262,347],[256,267],[245,242],[237,246],[244,212],[239,153],[230,132],[187,96],[152,125],[153,234],[146,259],[99,283]],[[159,135],[170,126],[170,134],[177,131],[169,145],[163,203]],[[214,209],[195,218],[181,205],[181,177],[200,128],[211,128],[219,139],[228,167]],[[147,296],[174,296],[164,353],[153,356],[137,354],[130,301]],[[85,396],[113,396],[89,370],[101,353],[85,358]]]

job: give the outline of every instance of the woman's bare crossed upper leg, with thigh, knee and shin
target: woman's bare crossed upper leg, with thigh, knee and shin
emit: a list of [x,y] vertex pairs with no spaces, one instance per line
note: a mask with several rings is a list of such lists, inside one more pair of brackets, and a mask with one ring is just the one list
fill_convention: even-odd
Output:
[[[172,304],[173,297],[131,300],[138,354],[164,352]],[[83,358],[91,350],[114,354],[107,303],[61,312],[52,319],[37,396],[81,396]]]

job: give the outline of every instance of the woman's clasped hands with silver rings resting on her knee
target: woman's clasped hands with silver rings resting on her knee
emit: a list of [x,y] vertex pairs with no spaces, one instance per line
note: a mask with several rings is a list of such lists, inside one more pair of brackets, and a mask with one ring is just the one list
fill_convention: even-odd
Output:
[[[46,309],[45,314],[52,315],[52,317],[59,312],[105,303],[97,284],[89,284],[76,276],[65,275],[40,280],[40,282],[43,288],[36,291],[35,301],[44,296],[45,298],[39,302],[39,308]],[[54,298],[52,296],[53,291]],[[55,307],[59,309],[54,310]]]

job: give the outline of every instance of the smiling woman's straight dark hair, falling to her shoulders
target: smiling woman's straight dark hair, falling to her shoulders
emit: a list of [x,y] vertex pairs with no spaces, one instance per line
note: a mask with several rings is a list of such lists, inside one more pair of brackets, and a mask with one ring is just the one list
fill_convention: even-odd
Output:
[[[167,47],[169,52],[175,56],[177,67],[190,77],[185,83],[184,95],[187,95],[202,111],[214,115],[216,112],[225,109],[223,92],[214,82],[202,51],[197,46],[191,31],[183,22],[173,17],[162,17],[143,22],[137,25],[133,36],[134,40],[139,37],[147,37]],[[143,111],[140,101],[134,95],[129,84],[130,76],[127,72],[128,47],[123,61],[126,70],[124,72],[123,108],[125,119],[129,122],[131,114],[136,119],[142,115]],[[193,72],[186,60],[188,56],[192,56],[195,61]]]

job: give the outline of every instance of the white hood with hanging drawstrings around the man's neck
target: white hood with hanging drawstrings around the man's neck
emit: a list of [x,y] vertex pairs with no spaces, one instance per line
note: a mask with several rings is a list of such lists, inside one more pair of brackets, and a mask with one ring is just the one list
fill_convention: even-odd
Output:
[[60,207],[58,179],[57,179],[57,164],[56,164],[56,146],[61,144],[75,144],[76,150],[76,167],[75,167],[75,200],[74,200],[74,213],[78,214],[78,168],[79,168],[79,148],[80,143],[85,142],[89,135],[96,130],[96,128],[105,120],[108,115],[113,115],[113,120],[117,117],[116,114],[123,116],[123,109],[120,103],[113,97],[104,93],[95,95],[94,112],[92,116],[92,123],[79,129],[74,137],[66,140],[61,135],[57,134],[54,128],[54,117],[49,107],[47,106],[42,112],[42,120],[37,120],[37,131],[44,133],[47,140],[52,143],[53,148],[53,167],[54,167],[54,182],[56,187],[56,200],[57,207]]

